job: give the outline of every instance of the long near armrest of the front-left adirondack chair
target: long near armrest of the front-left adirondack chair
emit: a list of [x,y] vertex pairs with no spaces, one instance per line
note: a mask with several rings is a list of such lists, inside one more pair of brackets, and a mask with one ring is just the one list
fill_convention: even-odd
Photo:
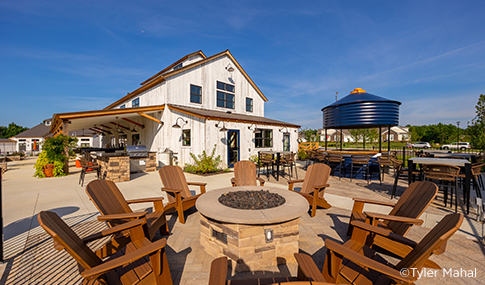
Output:
[[121,257],[107,261],[93,268],[84,270],[83,272],[81,272],[81,276],[90,280],[94,279],[99,275],[104,274],[112,269],[131,263],[133,261],[139,260],[146,255],[159,251],[160,249],[164,248],[165,245],[167,245],[166,239],[158,240],[149,245],[143,246],[142,248],[136,249],[128,254],[125,254]]

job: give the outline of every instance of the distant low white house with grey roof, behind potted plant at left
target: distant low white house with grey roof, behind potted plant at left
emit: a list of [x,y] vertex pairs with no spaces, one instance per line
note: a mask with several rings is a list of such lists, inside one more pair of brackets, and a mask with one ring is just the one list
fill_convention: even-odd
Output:
[[[14,136],[12,140],[16,142],[15,152],[36,154],[42,151],[42,143],[52,137],[51,121],[52,119],[45,119],[41,124]],[[69,132],[69,135],[78,138],[79,147],[92,147],[96,133],[91,130],[81,130]]]

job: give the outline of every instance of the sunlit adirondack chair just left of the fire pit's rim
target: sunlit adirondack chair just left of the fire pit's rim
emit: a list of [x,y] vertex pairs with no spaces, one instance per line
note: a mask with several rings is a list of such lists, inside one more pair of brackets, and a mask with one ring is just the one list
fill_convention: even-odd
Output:
[[[175,165],[166,165],[160,168],[158,174],[160,174],[163,183],[162,191],[167,192],[166,212],[177,211],[179,221],[185,224],[184,211],[195,206],[197,198],[205,193],[207,183],[187,182],[182,168]],[[192,196],[188,185],[200,186],[200,194]]]

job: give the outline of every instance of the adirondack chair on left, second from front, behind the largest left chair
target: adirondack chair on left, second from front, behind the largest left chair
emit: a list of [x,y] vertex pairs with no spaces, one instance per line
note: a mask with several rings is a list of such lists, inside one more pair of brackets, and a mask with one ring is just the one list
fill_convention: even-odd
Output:
[[[86,193],[102,215],[98,217],[98,220],[106,221],[110,227],[133,219],[146,219],[147,237],[150,240],[153,240],[158,230],[160,230],[161,235],[168,235],[169,233],[165,210],[163,208],[163,197],[125,200],[116,184],[110,180],[94,180],[89,182],[86,185]],[[145,211],[133,212],[129,207],[129,204],[147,202],[153,202],[154,204],[154,209],[151,213]],[[111,254],[109,252],[110,248],[116,250],[120,246],[123,247],[127,242],[129,240],[126,239],[126,233],[124,237],[122,235],[114,236],[111,243],[108,243],[104,250],[109,255]]]

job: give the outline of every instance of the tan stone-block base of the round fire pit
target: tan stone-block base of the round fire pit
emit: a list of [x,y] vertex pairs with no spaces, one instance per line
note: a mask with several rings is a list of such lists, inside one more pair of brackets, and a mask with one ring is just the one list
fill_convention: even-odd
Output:
[[[300,218],[276,224],[221,223],[201,215],[200,244],[214,257],[227,256],[237,272],[296,263]],[[266,242],[265,230],[273,230]]]

